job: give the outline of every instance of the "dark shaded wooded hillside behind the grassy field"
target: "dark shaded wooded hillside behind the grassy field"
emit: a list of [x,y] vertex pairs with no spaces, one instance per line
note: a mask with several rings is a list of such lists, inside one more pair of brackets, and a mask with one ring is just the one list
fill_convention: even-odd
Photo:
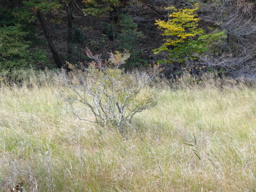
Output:
[[[195,27],[204,36],[156,54],[175,37],[163,34],[156,21],[168,22],[173,12],[196,4]],[[166,9],[172,5],[176,10]],[[255,39],[254,0],[0,0],[0,71],[86,65],[89,48],[102,59],[128,51],[127,70],[162,63],[167,77],[208,71],[254,78]]]

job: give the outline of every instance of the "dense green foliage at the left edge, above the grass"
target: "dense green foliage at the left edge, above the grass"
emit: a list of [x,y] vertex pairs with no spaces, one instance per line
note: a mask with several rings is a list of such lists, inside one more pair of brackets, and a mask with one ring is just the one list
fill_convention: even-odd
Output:
[[26,39],[28,34],[21,24],[0,27],[0,71],[49,62],[44,50],[35,49],[30,52],[32,42]]

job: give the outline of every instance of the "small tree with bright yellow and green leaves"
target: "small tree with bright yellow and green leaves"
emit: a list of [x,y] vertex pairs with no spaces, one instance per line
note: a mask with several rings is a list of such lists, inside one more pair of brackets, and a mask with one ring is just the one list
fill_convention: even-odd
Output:
[[200,21],[196,14],[199,9],[198,4],[195,4],[193,8],[178,10],[171,6],[166,9],[172,12],[169,14],[169,20],[159,19],[155,23],[166,38],[163,39],[165,43],[153,51],[155,54],[162,51],[170,53],[168,58],[160,60],[160,63],[183,63],[186,60],[195,60],[200,53],[214,51],[213,45],[225,37],[225,31],[216,29],[206,34],[204,29],[198,28]]

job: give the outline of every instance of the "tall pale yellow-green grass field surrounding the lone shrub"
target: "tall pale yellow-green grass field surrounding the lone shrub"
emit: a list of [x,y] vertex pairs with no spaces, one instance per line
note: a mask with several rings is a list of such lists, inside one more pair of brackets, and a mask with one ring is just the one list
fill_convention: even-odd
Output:
[[58,96],[72,91],[56,73],[19,73],[16,84],[0,78],[4,191],[21,181],[27,191],[256,191],[253,86],[212,75],[159,79],[142,90],[158,105],[120,133],[62,109]]

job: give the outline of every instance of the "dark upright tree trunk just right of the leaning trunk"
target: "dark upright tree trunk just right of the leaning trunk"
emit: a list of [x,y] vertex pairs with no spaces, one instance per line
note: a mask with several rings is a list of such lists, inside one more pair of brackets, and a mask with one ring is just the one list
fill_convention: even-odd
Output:
[[72,48],[71,48],[71,42],[72,42],[72,13],[74,10],[74,1],[71,0],[67,4],[67,16],[68,16],[68,37],[67,37],[67,44],[68,44],[68,57],[71,57],[72,54]]

